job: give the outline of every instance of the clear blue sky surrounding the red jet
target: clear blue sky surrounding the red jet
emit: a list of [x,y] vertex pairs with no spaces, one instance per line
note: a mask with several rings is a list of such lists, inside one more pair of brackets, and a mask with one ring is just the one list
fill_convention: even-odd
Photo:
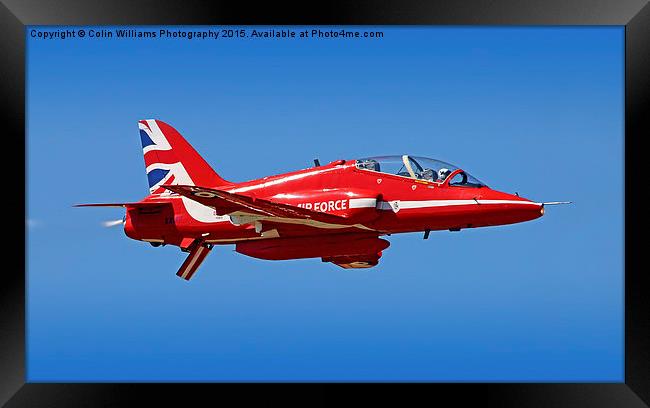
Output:
[[[27,35],[28,381],[623,381],[622,27],[382,39]],[[393,235],[377,268],[185,254],[81,202],[144,197],[137,120],[226,179],[409,153],[571,200]],[[61,177],[55,175],[60,175]]]

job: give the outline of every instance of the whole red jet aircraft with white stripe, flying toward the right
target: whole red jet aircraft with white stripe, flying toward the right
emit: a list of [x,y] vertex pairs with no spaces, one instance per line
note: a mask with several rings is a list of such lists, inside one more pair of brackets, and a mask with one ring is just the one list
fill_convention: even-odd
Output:
[[189,280],[214,245],[260,259],[321,258],[343,268],[377,265],[381,236],[460,231],[529,221],[544,206],[492,190],[466,171],[424,157],[336,160],[243,183],[221,178],[170,125],[139,121],[150,194],[124,207],[124,232],[189,255]]

